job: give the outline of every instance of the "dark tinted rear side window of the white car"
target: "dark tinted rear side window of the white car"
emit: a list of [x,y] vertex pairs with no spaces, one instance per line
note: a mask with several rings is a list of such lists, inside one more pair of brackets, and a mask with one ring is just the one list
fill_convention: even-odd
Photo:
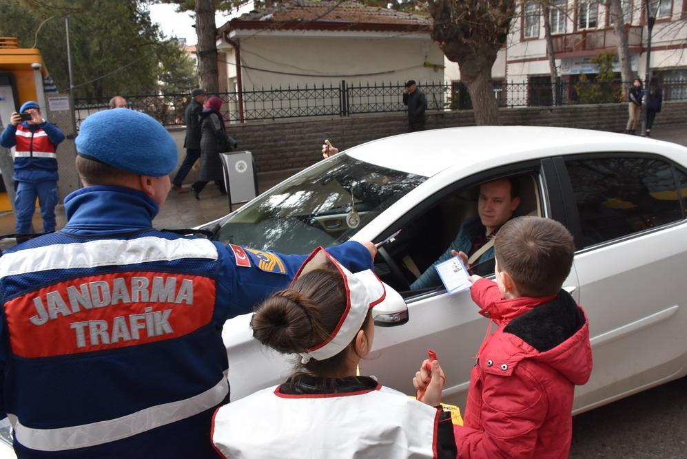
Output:
[[683,218],[670,164],[648,158],[566,161],[585,248]]

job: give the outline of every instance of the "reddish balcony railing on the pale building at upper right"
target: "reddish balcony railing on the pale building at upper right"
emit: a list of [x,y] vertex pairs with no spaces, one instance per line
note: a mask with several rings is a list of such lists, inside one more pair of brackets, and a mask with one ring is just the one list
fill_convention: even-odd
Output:
[[[642,26],[626,25],[628,47],[642,46]],[[553,52],[584,53],[606,49],[617,49],[617,36],[612,28],[599,30],[580,30],[572,34],[553,36]]]

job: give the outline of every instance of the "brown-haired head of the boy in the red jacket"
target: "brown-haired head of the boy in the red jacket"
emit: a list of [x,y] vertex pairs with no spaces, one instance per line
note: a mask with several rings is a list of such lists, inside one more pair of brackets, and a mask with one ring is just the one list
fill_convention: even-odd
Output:
[[517,217],[494,241],[499,271],[506,271],[524,297],[555,295],[573,266],[575,243],[565,226],[542,217]]

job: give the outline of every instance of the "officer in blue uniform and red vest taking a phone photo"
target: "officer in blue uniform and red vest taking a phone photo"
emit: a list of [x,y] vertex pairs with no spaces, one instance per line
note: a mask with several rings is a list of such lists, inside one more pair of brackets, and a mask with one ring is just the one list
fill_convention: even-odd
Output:
[[[16,147],[14,175],[17,193],[14,197],[17,233],[31,231],[31,219],[36,209],[36,197],[41,205],[43,231],[55,231],[55,206],[57,205],[57,145],[64,134],[41,116],[41,108],[33,100],[25,102],[10,117],[10,125],[0,134],[0,145]],[[29,120],[23,120],[22,116]]]

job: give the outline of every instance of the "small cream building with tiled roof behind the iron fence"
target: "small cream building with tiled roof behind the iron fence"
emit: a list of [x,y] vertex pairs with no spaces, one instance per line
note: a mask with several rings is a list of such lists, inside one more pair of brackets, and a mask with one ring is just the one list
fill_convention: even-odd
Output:
[[[315,111],[332,114],[340,92],[327,89],[343,83],[358,89],[385,85],[391,103],[407,80],[443,83],[444,55],[429,27],[427,18],[355,1],[297,0],[243,14],[218,30],[220,92],[242,94],[243,110],[252,104],[256,113],[271,101],[261,105],[253,92],[265,97],[264,90],[274,89],[278,97],[290,91],[292,106],[296,89],[317,88],[304,98],[316,104]],[[347,97],[364,97],[358,89]],[[241,110],[238,105],[233,108]]]

